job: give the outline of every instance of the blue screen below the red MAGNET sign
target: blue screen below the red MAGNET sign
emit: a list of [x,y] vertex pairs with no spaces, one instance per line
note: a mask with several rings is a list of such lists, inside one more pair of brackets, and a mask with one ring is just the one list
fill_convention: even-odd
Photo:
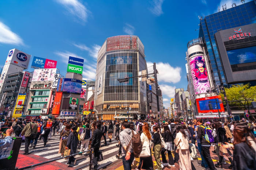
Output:
[[256,62],[256,46],[228,50],[230,65]]

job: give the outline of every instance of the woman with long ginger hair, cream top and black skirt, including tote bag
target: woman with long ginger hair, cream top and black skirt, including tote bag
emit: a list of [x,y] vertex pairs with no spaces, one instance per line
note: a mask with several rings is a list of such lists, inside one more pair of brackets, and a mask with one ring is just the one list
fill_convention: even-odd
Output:
[[142,152],[140,153],[140,162],[138,168],[136,168],[135,170],[153,170],[153,160],[151,155],[152,142],[147,123],[144,123],[144,125],[142,126],[142,131],[143,132],[140,135],[140,140],[142,142]]

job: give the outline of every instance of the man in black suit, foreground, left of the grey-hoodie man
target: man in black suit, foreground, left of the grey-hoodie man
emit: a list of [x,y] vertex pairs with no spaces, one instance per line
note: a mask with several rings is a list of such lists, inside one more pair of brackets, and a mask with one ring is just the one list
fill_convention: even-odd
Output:
[[103,132],[101,129],[101,122],[96,122],[96,130],[93,132],[93,139],[91,141],[91,148],[94,148],[93,169],[97,170],[99,147],[101,146],[101,137]]

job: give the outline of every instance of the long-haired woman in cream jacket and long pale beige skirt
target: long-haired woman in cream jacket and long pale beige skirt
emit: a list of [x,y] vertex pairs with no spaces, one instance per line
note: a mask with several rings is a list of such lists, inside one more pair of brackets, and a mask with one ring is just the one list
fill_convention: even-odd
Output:
[[177,134],[174,139],[174,144],[177,146],[176,152],[178,152],[180,158],[180,169],[192,170],[187,135],[181,125],[177,125],[176,132]]

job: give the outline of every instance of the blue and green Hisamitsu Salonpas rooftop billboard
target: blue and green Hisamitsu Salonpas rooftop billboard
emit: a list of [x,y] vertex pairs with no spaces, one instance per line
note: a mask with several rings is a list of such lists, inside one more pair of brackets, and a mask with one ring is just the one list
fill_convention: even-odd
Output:
[[84,62],[84,60],[81,58],[69,56],[67,72],[82,74],[83,73],[83,62]]

